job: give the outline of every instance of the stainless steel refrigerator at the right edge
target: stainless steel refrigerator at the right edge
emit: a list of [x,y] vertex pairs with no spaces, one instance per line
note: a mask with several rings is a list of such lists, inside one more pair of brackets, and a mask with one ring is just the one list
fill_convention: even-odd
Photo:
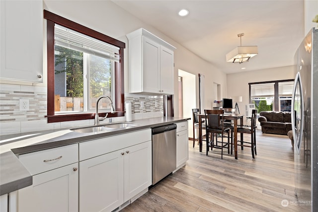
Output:
[[294,204],[318,212],[318,30],[304,38],[294,58],[292,126],[295,161]]

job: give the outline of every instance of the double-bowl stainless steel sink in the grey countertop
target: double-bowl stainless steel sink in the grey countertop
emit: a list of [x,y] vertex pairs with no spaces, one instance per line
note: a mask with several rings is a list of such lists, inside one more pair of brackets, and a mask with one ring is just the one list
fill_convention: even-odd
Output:
[[113,123],[113,124],[92,126],[92,127],[86,127],[86,128],[75,128],[71,130],[78,133],[106,133],[106,132],[111,132],[114,130],[119,130],[119,129],[122,130],[122,129],[127,129],[127,128],[131,128],[135,126],[137,126],[137,124]]

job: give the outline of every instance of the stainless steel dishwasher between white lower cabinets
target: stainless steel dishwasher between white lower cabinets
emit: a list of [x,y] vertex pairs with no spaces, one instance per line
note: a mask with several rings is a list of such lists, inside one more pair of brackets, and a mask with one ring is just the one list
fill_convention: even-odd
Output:
[[152,128],[153,185],[176,169],[176,124]]

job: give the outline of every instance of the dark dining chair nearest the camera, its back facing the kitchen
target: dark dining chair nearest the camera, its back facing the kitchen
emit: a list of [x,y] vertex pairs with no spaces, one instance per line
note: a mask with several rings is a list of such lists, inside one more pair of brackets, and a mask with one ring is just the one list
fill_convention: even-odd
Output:
[[[204,110],[205,113],[205,130],[206,130],[206,155],[208,155],[209,148],[211,150],[213,148],[220,148],[221,149],[221,159],[223,159],[223,148],[228,149],[228,153],[230,154],[230,127],[224,126],[224,110]],[[224,134],[227,133],[228,141],[224,142]],[[211,134],[211,141],[209,141]],[[218,135],[221,137],[221,144],[218,142]],[[215,142],[214,142],[215,136]],[[231,146],[232,146],[231,142]]]

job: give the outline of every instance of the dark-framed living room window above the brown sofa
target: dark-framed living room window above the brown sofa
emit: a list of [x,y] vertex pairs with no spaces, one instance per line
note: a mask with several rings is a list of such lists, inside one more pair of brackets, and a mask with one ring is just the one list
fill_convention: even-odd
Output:
[[249,84],[250,102],[261,111],[291,111],[294,79]]

